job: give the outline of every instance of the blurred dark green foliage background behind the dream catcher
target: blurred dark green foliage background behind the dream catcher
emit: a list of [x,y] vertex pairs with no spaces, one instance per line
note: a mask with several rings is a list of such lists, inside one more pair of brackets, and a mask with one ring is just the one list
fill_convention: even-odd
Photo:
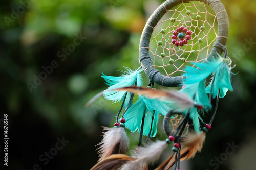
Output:
[[[119,76],[116,70],[123,66],[139,67],[140,34],[162,2],[0,2],[1,129],[4,114],[9,121],[5,169],[90,169],[97,162],[95,145],[101,140],[101,126],[111,127],[119,108],[104,98],[88,108],[84,104],[107,87],[101,72]],[[220,100],[214,128],[189,166],[256,169],[256,2],[222,3],[230,21],[229,57],[236,64],[234,91]],[[46,70],[48,74],[42,73]],[[144,81],[146,85],[148,80]],[[206,115],[205,121],[209,118]],[[138,134],[129,136],[136,145]],[[157,137],[165,138],[161,132]],[[56,150],[61,139],[66,143]],[[224,157],[227,143],[240,147]],[[54,156],[47,158],[47,152]],[[223,160],[218,167],[210,164],[217,162],[216,157]]]

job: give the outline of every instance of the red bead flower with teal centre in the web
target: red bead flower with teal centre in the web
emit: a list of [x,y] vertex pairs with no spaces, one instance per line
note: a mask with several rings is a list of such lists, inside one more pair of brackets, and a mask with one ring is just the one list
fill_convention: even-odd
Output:
[[184,26],[178,27],[172,35],[172,43],[175,46],[183,46],[191,39],[192,31],[188,31]]

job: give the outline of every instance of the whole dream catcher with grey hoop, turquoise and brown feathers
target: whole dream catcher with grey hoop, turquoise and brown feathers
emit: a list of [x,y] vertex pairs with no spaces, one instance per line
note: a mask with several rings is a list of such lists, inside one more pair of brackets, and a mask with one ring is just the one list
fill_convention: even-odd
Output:
[[[126,68],[120,77],[102,76],[110,87],[99,95],[120,102],[121,107],[114,128],[104,128],[100,159],[92,169],[148,169],[168,144],[172,145],[170,156],[157,169],[180,169],[180,161],[201,151],[219,98],[233,90],[225,46],[228,27],[227,12],[219,0],[167,0],[156,9],[141,35],[141,67]],[[141,87],[142,71],[150,81],[146,88]],[[155,83],[181,89],[158,90]],[[134,94],[139,96],[136,102]],[[212,116],[201,128],[205,112]],[[157,133],[159,114],[164,115],[167,139],[149,142]],[[126,155],[125,128],[140,133],[132,156]],[[147,140],[142,147],[143,135]]]

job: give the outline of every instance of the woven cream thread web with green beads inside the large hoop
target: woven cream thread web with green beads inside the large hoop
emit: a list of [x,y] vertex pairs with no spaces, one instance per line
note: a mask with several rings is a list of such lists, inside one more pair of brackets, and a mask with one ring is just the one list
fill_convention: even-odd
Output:
[[[172,43],[172,36],[181,26],[192,32],[191,39],[187,39],[183,46],[176,46]],[[203,61],[211,51],[217,38],[217,17],[207,4],[197,1],[182,3],[174,10],[168,10],[153,29],[149,47],[153,67],[163,75],[180,76],[184,65]],[[184,38],[177,36],[178,42],[186,39],[187,32],[183,33]]]

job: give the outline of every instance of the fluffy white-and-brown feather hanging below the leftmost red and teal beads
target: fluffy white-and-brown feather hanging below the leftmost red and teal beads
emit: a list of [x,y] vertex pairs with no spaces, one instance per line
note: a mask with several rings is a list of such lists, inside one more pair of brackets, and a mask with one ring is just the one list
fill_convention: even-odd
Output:
[[124,128],[103,127],[104,132],[102,141],[98,144],[99,160],[105,159],[112,154],[125,154],[129,150],[129,138]]

